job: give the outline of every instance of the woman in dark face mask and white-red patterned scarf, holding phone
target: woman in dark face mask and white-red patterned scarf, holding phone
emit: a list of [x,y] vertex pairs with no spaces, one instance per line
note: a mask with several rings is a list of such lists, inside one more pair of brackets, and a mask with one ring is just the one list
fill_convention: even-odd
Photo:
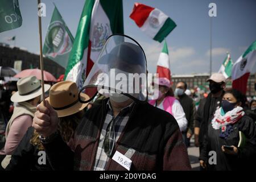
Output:
[[238,90],[225,92],[221,107],[214,113],[205,135],[199,158],[201,167],[208,170],[253,169],[256,126],[245,115],[241,107],[243,102],[243,95]]

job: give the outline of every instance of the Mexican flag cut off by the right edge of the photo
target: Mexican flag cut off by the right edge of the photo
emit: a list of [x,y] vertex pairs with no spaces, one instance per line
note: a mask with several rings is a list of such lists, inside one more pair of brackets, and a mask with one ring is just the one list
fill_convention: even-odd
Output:
[[247,80],[256,62],[256,41],[238,58],[232,69],[232,88],[246,94]]

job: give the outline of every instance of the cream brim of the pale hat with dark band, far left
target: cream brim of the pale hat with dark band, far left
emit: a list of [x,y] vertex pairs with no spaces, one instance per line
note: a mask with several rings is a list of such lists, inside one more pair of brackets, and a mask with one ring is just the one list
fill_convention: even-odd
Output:
[[[44,93],[46,93],[49,89],[51,88],[51,85],[44,84]],[[11,101],[12,102],[24,102],[31,100],[32,98],[36,98],[40,95],[42,95],[43,89],[40,88],[36,90],[35,92],[32,92],[30,94],[27,94],[26,96],[20,96],[19,92],[15,92],[13,96],[11,96]]]

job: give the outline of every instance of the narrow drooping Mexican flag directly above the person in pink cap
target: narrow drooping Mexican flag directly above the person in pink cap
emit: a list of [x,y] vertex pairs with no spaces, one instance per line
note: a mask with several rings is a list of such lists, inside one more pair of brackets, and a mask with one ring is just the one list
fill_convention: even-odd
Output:
[[168,46],[166,40],[164,40],[164,46],[158,59],[158,65],[156,73],[159,74],[159,78],[168,78],[171,81],[170,59],[168,54]]

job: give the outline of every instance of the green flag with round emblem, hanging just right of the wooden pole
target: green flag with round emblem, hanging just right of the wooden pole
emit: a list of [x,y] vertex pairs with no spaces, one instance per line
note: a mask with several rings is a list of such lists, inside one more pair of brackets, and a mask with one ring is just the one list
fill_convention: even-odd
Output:
[[73,42],[74,38],[55,6],[51,23],[48,26],[43,54],[61,67],[66,68]]

